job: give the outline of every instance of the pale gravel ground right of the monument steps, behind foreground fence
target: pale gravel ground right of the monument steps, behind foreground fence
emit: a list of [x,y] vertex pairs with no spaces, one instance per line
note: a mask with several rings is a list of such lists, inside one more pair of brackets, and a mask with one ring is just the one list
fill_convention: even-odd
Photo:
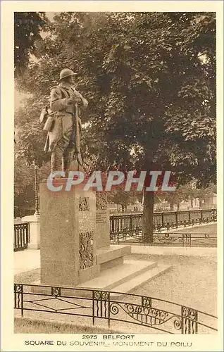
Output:
[[[149,256],[142,254],[135,254],[135,258],[149,260]],[[217,314],[216,258],[150,256],[150,260],[172,265],[173,268],[139,287],[133,294],[154,296]]]

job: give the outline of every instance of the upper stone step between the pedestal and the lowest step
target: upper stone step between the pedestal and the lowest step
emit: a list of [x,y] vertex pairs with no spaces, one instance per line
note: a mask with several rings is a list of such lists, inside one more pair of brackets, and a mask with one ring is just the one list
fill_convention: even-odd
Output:
[[131,279],[149,272],[156,268],[156,262],[149,262],[147,260],[125,260],[122,265],[116,265],[116,267],[103,270],[98,277],[95,279],[84,282],[78,285],[83,289],[105,289],[106,291],[114,289],[125,282],[129,282]]

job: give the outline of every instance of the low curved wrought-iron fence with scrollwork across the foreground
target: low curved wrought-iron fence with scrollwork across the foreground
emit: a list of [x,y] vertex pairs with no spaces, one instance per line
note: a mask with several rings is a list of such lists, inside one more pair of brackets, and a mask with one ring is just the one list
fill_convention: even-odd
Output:
[[[89,317],[148,327],[168,334],[213,334],[217,317],[159,298],[98,289],[14,284],[14,308],[43,313]],[[152,330],[150,330],[152,329]]]

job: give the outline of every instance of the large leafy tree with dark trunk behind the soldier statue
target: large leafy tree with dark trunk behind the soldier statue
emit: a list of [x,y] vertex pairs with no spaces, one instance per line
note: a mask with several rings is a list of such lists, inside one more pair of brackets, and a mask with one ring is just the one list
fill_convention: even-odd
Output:
[[[23,85],[43,99],[62,67],[79,73],[97,170],[171,170],[178,185],[195,177],[199,187],[216,179],[213,13],[60,13],[51,33]],[[148,240],[153,208],[146,193]]]

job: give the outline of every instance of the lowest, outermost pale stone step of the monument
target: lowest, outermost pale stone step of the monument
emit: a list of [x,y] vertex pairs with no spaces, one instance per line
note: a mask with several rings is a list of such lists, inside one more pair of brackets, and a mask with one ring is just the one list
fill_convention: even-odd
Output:
[[[130,293],[137,289],[138,287],[142,286],[146,282],[151,281],[152,279],[155,279],[158,275],[163,274],[167,270],[172,268],[171,265],[156,265],[155,268],[152,268],[151,270],[148,270],[146,272],[143,272],[140,275],[137,275],[136,277],[133,277],[132,279],[128,280],[127,282],[124,282],[123,284],[120,284],[116,287],[113,287],[113,291],[118,291],[118,292],[125,292],[125,293]],[[111,294],[112,298],[118,298],[121,296],[121,294]]]

